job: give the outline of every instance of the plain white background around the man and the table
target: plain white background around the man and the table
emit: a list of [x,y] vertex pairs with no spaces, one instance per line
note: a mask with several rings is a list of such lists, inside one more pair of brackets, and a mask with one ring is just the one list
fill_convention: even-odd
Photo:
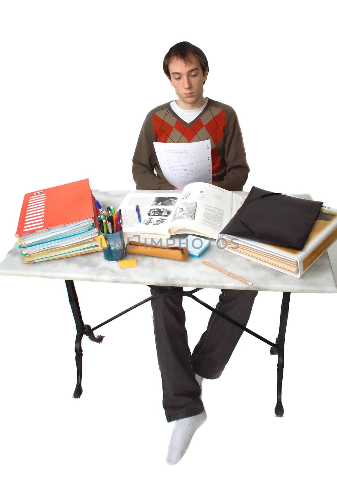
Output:
[[[253,185],[337,206],[336,17],[332,1],[1,1],[0,257],[14,244],[23,195],[89,178],[134,189],[142,121],[175,98],[169,47],[202,48],[205,96],[237,111]],[[1,277],[2,482],[330,483],[336,457],[336,295],[293,294],[283,418],[277,357],[244,334],[208,420],[183,460],[165,464],[173,424],[161,407],[149,303],[83,339],[84,393],[73,399],[75,326],[63,281]],[[95,326],[146,287],[76,284]],[[216,303],[217,291],[204,290]],[[200,293],[200,296],[202,293]],[[260,293],[249,327],[274,341],[280,293]],[[191,348],[207,310],[186,301]]]

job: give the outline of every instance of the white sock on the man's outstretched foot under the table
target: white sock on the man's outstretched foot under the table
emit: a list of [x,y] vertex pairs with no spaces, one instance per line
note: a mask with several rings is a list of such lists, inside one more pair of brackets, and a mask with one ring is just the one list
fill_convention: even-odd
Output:
[[166,462],[173,466],[180,461],[185,454],[193,434],[200,425],[206,420],[206,412],[203,411],[193,417],[176,420],[174,423],[171,440],[169,442],[169,451]]

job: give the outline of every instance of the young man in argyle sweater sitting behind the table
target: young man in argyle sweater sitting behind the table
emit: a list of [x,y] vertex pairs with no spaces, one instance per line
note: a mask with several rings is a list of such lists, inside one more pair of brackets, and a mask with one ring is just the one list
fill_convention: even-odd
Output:
[[[242,190],[249,167],[238,118],[230,106],[203,97],[209,72],[205,54],[189,42],[180,42],[169,49],[163,68],[178,99],[155,107],[145,118],[133,157],[137,189],[176,189],[165,180],[158,165],[154,141],[210,139],[212,183],[227,190]],[[163,407],[167,421],[176,421],[169,443],[169,464],[182,458],[193,433],[206,420],[200,399],[202,378],[220,377],[242,334],[238,327],[213,313],[191,355],[182,291],[182,287],[151,287],[153,295],[166,292],[152,301],[152,308]],[[245,326],[257,292],[221,291],[217,310]]]

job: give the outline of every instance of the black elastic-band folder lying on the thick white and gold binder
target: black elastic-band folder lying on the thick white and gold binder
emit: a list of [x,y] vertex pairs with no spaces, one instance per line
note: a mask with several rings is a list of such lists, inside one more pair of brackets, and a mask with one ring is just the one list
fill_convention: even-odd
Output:
[[221,233],[302,250],[322,205],[253,186]]

